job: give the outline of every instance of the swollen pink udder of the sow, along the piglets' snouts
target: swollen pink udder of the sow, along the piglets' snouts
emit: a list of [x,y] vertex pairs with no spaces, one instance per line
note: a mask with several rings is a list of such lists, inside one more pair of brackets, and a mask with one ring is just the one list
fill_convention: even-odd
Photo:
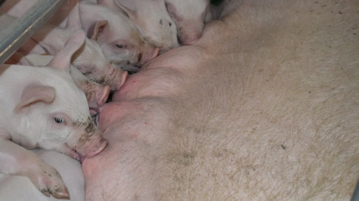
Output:
[[98,125],[109,143],[82,163],[87,201],[132,200],[139,195],[151,200],[155,190],[148,187],[156,186],[154,150],[167,135],[165,128],[173,106],[169,99],[181,91],[185,73],[191,73],[185,66],[171,64],[181,63],[186,54],[193,58],[195,53],[186,46],[156,57],[139,73],[128,76],[113,95],[116,102],[100,107]]

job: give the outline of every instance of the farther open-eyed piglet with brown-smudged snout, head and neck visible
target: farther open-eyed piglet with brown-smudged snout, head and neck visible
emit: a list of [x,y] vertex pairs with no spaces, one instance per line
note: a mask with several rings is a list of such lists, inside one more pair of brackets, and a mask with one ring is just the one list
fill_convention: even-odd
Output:
[[[136,25],[119,7],[81,1],[81,22],[88,37],[96,40],[106,56],[117,64],[141,67],[158,56],[159,48],[144,41]],[[95,13],[95,14],[94,14]],[[131,68],[129,70],[136,70]]]

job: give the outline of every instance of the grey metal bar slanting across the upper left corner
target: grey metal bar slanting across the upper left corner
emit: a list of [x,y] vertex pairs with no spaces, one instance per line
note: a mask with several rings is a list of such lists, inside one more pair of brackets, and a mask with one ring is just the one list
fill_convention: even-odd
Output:
[[66,0],[38,0],[26,13],[0,32],[0,64],[9,59]]

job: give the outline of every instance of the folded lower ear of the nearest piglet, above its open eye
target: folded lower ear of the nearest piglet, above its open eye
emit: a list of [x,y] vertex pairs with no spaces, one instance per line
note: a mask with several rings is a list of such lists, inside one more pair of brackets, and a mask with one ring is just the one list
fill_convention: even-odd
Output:
[[55,99],[55,88],[40,84],[32,84],[24,89],[20,103],[17,104],[14,112],[19,113],[23,108],[36,102],[51,103],[53,99]]

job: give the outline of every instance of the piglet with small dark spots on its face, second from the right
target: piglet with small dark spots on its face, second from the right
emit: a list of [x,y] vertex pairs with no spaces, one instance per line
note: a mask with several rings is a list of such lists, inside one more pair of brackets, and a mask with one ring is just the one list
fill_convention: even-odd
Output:
[[136,24],[144,40],[161,52],[179,46],[176,24],[169,17],[164,0],[97,0],[97,3],[109,8],[119,6]]

